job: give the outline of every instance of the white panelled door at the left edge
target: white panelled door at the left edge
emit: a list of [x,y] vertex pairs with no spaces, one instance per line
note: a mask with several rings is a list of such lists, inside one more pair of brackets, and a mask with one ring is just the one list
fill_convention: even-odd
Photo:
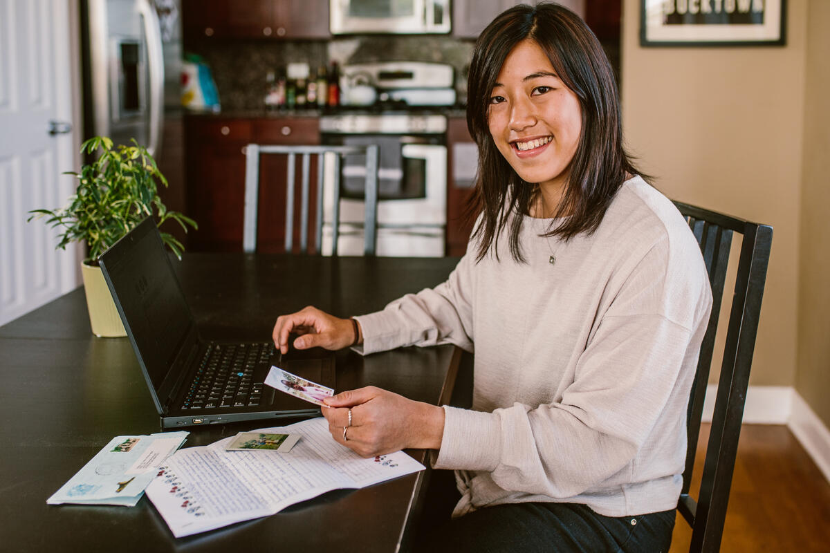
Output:
[[56,231],[27,212],[66,204],[75,189],[70,3],[0,0],[0,324],[74,289],[76,247],[56,250]]

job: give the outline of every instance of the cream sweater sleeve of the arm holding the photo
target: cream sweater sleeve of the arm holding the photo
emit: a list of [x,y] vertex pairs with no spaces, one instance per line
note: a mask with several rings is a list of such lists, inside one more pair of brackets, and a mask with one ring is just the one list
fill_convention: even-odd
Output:
[[598,313],[560,400],[492,413],[445,406],[434,466],[486,471],[504,490],[564,498],[627,483],[638,455],[665,455],[653,437],[683,420],[710,293],[697,272],[669,275],[665,257],[647,258]]

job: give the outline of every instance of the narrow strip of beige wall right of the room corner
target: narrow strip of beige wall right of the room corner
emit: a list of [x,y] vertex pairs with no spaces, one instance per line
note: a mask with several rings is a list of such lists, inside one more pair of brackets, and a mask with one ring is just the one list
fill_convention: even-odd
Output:
[[830,2],[808,6],[798,371],[795,388],[830,426]]

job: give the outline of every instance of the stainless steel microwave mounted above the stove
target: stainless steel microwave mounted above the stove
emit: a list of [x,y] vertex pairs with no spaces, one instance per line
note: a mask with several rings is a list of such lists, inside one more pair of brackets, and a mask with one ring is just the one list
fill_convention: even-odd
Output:
[[450,32],[450,0],[330,0],[333,35]]

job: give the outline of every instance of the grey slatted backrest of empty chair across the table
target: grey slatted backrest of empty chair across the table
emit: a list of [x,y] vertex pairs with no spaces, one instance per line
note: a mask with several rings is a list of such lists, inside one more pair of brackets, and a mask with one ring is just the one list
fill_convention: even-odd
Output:
[[[294,249],[295,221],[295,181],[296,158],[302,160],[300,179],[300,251],[309,250],[308,227],[310,216],[310,166],[311,157],[317,158],[316,206],[315,206],[315,251],[320,254],[323,247],[323,184],[326,175],[332,178],[334,199],[332,205],[332,255],[337,255],[339,237],[340,178],[343,160],[346,155],[361,154],[366,157],[365,216],[364,216],[364,254],[374,255],[377,241],[378,221],[378,146],[277,146],[266,144],[248,144],[245,166],[245,213],[243,217],[242,249],[246,252],[256,250],[256,228],[258,203],[260,196],[260,158],[265,154],[284,155],[287,158],[286,169],[286,252]],[[333,171],[325,171],[325,160],[333,161]],[[267,186],[267,183],[263,183]]]

